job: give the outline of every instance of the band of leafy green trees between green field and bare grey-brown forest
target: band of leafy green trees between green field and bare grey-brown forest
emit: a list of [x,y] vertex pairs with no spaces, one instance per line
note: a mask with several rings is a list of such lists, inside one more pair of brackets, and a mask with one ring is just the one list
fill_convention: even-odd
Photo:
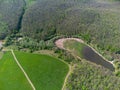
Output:
[[22,40],[16,42],[19,49],[30,49],[31,52],[37,51],[37,50],[43,50],[43,49],[52,49],[54,47],[54,44],[51,40],[44,41],[40,40],[37,41],[32,38],[22,38]]

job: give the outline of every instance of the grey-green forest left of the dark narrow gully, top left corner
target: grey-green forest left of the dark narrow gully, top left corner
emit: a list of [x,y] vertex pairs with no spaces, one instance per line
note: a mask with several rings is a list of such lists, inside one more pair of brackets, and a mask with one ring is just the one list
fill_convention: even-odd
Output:
[[24,0],[0,1],[0,39],[20,28],[20,20],[24,10]]

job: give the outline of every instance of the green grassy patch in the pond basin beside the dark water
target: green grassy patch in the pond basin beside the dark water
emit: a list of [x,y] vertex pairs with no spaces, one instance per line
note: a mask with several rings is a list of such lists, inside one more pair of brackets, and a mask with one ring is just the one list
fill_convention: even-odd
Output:
[[72,51],[75,55],[83,57],[82,50],[85,47],[84,44],[75,40],[67,40],[66,42],[64,42],[64,47]]

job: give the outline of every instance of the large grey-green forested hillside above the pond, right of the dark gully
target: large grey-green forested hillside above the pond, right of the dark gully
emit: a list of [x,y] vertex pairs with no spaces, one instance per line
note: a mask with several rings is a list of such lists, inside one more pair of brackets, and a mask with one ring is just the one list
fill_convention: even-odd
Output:
[[118,7],[109,0],[37,0],[26,10],[21,32],[38,40],[81,34],[88,43],[115,52],[120,48]]

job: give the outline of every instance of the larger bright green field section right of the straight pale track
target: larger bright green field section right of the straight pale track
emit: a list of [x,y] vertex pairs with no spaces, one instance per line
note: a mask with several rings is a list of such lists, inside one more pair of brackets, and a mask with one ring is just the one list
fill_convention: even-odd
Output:
[[15,55],[36,90],[61,90],[69,71],[67,64],[47,55],[18,51],[15,52]]

